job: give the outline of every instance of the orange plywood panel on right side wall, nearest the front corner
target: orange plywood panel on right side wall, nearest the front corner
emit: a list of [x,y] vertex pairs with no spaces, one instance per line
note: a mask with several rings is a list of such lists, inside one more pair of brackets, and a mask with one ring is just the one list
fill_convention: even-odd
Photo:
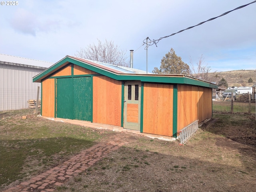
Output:
[[178,85],[177,130],[198,120],[198,86]]

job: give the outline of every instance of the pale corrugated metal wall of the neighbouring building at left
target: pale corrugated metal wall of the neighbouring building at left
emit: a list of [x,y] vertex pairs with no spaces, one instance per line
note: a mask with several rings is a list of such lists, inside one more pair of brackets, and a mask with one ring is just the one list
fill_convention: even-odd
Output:
[[[32,77],[43,69],[0,63],[0,111],[28,108],[28,100],[36,100],[37,87]],[[41,90],[40,95],[41,96]]]

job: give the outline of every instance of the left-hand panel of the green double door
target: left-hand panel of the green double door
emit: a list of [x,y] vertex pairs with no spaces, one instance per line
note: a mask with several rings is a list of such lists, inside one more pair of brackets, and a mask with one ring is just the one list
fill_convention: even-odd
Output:
[[73,119],[73,79],[57,78],[56,117]]

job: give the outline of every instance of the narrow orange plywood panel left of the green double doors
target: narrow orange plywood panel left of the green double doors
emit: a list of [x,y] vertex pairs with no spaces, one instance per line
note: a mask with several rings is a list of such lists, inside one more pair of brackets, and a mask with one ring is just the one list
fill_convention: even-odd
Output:
[[42,116],[54,118],[54,79],[46,79],[42,82]]

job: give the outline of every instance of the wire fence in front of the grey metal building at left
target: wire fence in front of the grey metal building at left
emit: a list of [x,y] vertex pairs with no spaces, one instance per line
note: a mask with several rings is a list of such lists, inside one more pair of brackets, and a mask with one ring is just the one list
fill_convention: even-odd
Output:
[[[39,99],[41,99],[39,90]],[[37,89],[7,88],[0,90],[0,111],[28,108],[28,100],[36,100]]]

